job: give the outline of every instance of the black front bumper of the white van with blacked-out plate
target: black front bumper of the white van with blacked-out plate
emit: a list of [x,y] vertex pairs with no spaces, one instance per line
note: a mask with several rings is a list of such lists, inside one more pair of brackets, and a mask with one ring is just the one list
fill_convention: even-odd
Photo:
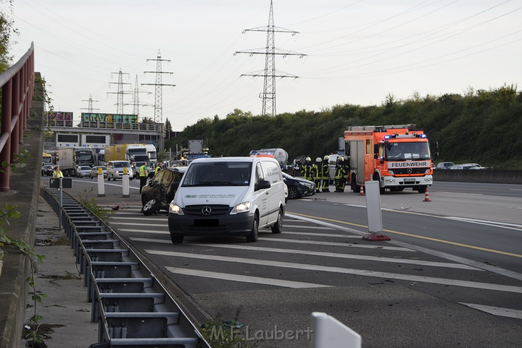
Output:
[[169,231],[173,236],[246,236],[252,231],[254,214],[240,213],[218,218],[189,217],[169,213]]

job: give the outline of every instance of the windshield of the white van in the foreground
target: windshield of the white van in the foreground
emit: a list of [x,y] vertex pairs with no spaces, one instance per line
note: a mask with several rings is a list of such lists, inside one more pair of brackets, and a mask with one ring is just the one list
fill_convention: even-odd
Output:
[[248,186],[251,174],[252,162],[193,163],[181,186]]

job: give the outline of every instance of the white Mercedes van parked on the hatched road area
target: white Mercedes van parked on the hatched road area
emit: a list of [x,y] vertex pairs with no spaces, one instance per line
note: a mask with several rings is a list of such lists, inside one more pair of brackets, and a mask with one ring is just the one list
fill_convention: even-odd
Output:
[[281,233],[284,183],[270,157],[201,158],[192,161],[169,206],[172,243],[184,236],[244,235],[258,229]]

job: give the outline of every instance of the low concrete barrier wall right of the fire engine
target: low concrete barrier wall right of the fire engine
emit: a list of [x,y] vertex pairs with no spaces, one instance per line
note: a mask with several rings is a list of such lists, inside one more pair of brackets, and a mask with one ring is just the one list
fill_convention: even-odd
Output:
[[433,171],[433,181],[453,181],[463,183],[489,183],[489,184],[522,184],[522,171],[501,170],[443,170]]

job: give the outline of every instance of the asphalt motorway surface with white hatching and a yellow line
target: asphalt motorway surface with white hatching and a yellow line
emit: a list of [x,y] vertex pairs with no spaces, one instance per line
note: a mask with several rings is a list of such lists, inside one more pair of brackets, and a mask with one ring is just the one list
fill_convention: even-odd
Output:
[[[386,193],[390,242],[361,238],[365,197],[347,191],[289,201],[283,233],[260,231],[257,243],[186,237],[174,245],[166,214],[140,214],[139,182],[129,198],[121,184],[105,182],[99,199],[120,206],[111,226],[209,314],[238,316],[257,346],[307,345],[269,333],[306,329],[312,311],[359,332],[364,346],[522,342],[522,186],[435,183],[430,202]],[[91,187],[96,196],[95,179],[74,178],[68,191]]]

